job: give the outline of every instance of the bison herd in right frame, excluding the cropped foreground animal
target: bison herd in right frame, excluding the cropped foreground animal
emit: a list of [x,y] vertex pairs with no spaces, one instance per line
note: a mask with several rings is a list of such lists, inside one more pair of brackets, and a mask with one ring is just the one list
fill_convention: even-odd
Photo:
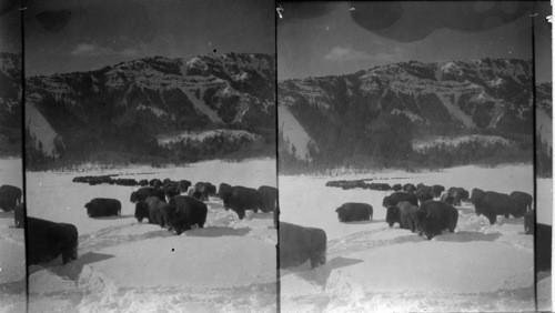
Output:
[[[332,181],[327,182],[326,185],[374,190],[382,190],[383,186],[383,184],[374,183],[375,188],[370,188],[372,184],[366,183],[365,180]],[[472,193],[468,193],[464,188],[453,186],[445,191],[442,185],[425,185],[423,183],[417,185],[412,183],[394,184],[390,190],[395,190],[395,192],[386,195],[382,202],[382,205],[387,210],[385,222],[390,228],[398,223],[401,229],[417,232],[427,239],[441,234],[444,230],[455,231],[458,211],[454,206],[460,206],[462,202],[473,203],[476,214],[486,216],[491,224],[496,222],[497,215],[503,215],[506,219],[524,216],[525,233],[532,234],[534,232],[533,198],[525,192],[515,191],[511,194],[504,194],[473,189]],[[335,212],[341,222],[365,221],[372,219],[373,208],[366,203],[349,202],[337,208]]]

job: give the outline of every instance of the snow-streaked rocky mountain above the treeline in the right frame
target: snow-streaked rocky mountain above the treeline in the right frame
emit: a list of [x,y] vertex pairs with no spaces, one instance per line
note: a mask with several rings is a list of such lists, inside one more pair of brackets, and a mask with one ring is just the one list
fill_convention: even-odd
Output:
[[[278,97],[280,108],[307,133],[304,142],[316,148],[369,137],[391,115],[403,115],[415,134],[427,137],[468,130],[531,134],[533,125],[529,60],[394,63],[346,75],[280,81]],[[295,137],[286,128],[280,132]]]

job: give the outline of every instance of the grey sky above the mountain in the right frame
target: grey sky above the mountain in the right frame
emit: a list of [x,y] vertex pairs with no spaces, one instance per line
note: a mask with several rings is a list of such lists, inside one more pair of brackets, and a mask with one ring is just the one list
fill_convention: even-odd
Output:
[[[537,3],[536,3],[537,4]],[[353,73],[402,61],[532,59],[551,81],[549,2],[281,2],[278,79]]]

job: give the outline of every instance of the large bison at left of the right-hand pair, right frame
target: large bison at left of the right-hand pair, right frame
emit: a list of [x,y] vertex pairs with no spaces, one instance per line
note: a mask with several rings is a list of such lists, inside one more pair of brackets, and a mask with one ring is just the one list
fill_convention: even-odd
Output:
[[474,208],[476,210],[476,215],[484,214],[490,220],[493,225],[497,219],[497,215],[504,215],[508,219],[508,215],[514,211],[514,202],[505,193],[498,193],[494,191],[484,192],[482,199],[475,200]]

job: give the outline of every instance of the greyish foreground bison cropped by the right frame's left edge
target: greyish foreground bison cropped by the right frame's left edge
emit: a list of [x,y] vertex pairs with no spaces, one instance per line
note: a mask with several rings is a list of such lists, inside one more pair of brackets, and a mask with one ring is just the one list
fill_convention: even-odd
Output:
[[280,222],[280,267],[303,264],[310,260],[312,269],[325,264],[327,236],[321,229],[303,228]]

